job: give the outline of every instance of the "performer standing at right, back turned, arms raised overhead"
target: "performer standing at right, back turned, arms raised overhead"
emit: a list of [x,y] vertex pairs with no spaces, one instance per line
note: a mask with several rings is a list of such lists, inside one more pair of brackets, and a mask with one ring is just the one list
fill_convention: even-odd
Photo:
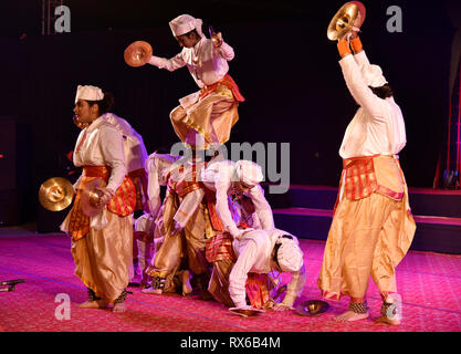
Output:
[[360,107],[339,149],[343,174],[318,287],[327,299],[350,296],[349,310],[336,320],[356,321],[369,315],[371,275],[383,298],[377,321],[397,325],[400,319],[388,311],[399,305],[396,267],[416,230],[397,156],[406,145],[405,122],[381,69],[369,63],[354,29],[337,48],[346,85]]

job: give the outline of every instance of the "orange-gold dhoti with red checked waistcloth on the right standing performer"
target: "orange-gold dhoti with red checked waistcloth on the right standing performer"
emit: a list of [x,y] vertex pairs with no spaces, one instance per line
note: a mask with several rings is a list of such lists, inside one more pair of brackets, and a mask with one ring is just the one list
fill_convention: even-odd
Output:
[[396,267],[416,230],[397,157],[344,160],[318,287],[323,296],[365,299],[371,275],[381,296],[397,292]]

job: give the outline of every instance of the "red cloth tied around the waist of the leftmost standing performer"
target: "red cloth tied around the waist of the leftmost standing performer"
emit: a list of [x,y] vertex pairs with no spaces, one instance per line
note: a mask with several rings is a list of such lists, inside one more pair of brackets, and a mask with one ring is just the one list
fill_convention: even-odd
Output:
[[[73,239],[80,240],[90,231],[90,218],[83,212],[81,207],[82,191],[85,186],[101,177],[106,184],[111,176],[111,168],[106,166],[85,166],[75,194],[74,205],[71,210],[69,231]],[[125,176],[122,185],[115,191],[114,197],[107,202],[107,209],[121,217],[133,214],[136,205],[136,188],[128,176]]]

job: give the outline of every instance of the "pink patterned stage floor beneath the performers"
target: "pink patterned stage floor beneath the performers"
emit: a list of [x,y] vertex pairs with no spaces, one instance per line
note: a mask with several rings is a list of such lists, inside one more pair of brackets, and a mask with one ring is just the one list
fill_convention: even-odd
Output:
[[[265,312],[254,317],[231,314],[214,301],[176,294],[156,296],[129,288],[127,312],[82,310],[86,289],[73,274],[71,241],[63,235],[39,235],[10,228],[0,233],[0,281],[24,279],[14,291],[0,292],[0,331],[4,332],[460,332],[461,256],[410,251],[397,269],[402,296],[402,324],[387,326],[367,319],[337,323],[347,299],[329,301],[324,314],[311,317]],[[324,241],[301,240],[307,282],[298,300],[319,299],[316,281]],[[57,294],[71,300],[69,319],[59,320]],[[57,302],[56,302],[57,301]],[[380,298],[368,290],[371,316],[379,315]]]

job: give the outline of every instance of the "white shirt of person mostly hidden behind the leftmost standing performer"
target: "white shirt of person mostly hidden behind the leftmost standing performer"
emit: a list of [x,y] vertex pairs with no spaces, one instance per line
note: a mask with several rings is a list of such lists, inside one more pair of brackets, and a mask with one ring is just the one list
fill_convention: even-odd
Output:
[[113,113],[103,114],[102,117],[115,125],[124,138],[125,163],[128,173],[144,169],[147,159],[147,150],[144,146],[143,137],[126,119],[118,117]]

